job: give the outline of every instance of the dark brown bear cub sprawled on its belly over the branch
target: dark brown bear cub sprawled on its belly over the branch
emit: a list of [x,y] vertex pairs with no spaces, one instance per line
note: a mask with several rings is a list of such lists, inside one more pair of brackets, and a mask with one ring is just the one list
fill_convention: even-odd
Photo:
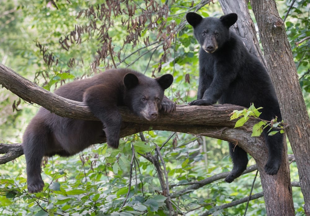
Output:
[[89,79],[61,86],[55,94],[84,101],[100,121],[60,117],[41,107],[23,136],[27,164],[28,191],[43,190],[41,162],[43,156],[70,156],[107,137],[112,148],[119,145],[122,117],[117,106],[127,106],[135,115],[155,120],[158,110],[171,112],[175,103],[164,96],[173,82],[171,74],[156,79],[128,69],[107,70]]

